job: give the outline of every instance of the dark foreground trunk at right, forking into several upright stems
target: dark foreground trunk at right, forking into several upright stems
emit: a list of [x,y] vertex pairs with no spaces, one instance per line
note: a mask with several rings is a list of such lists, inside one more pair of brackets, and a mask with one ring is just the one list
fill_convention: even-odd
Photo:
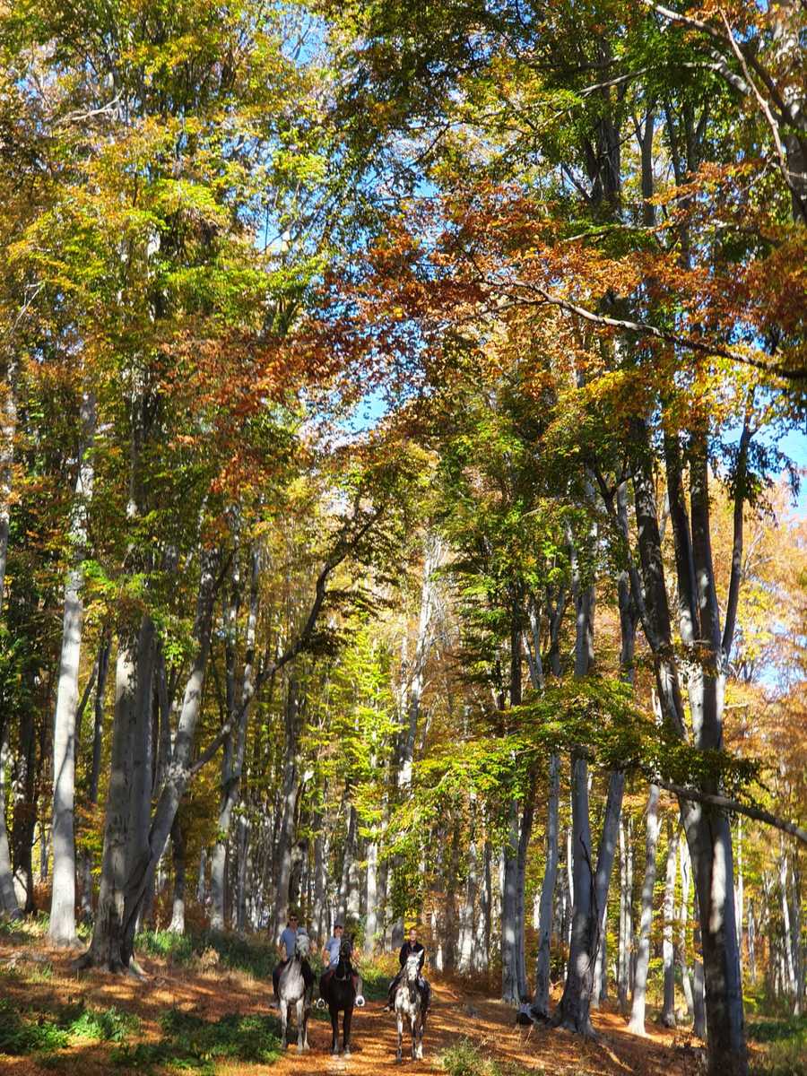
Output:
[[[637,536],[645,594],[645,631],[653,652],[655,679],[664,721],[679,738],[685,738],[684,710],[678,665],[672,647],[669,605],[664,578],[664,558],[656,516],[655,486],[649,431],[642,420],[632,423],[636,458],[634,495]],[[690,711],[694,742],[698,750],[720,750],[723,732],[723,698],[728,654],[736,623],[737,596],[742,561],[742,506],[746,496],[746,461],[750,439],[744,426],[738,449],[734,505],[732,574],[726,599],[725,626],[721,635],[718,597],[710,548],[708,443],[700,427],[691,430],[689,445],[691,530],[681,496],[677,444],[665,452],[679,593],[688,615],[697,615],[698,649],[689,678]],[[684,639],[684,642],[686,640]],[[713,780],[704,791],[717,792]],[[721,811],[680,797],[681,818],[692,856],[697,893],[706,979],[706,1010],[710,1076],[746,1076],[748,1059],[742,1013],[742,992],[734,909],[734,866],[728,818]]]

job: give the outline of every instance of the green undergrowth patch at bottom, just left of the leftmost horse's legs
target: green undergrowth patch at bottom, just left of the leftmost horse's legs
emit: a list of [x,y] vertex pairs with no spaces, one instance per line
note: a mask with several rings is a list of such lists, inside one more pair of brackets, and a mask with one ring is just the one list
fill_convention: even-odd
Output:
[[212,1021],[169,1009],[160,1018],[160,1029],[158,1043],[114,1049],[113,1065],[138,1073],[179,1068],[213,1076],[216,1061],[272,1064],[281,1056],[280,1025],[273,1017],[232,1013]]

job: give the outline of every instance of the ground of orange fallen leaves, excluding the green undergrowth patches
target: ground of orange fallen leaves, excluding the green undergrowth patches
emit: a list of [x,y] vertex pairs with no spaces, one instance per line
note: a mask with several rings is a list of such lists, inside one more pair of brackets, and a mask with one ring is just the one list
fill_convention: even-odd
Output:
[[[15,947],[0,938],[0,965],[17,959]],[[143,1021],[143,1038],[159,1038],[159,1017],[176,1007],[209,1020],[228,1013],[266,1014],[271,987],[239,973],[211,968],[190,971],[171,967],[164,961],[144,960],[145,982],[89,973],[77,977],[70,954],[46,946],[18,952],[28,971],[46,961],[48,973],[31,981],[5,978],[0,992],[25,1010],[29,1005],[63,1004],[81,999],[94,1006],[118,1005],[137,1013]],[[52,972],[49,971],[52,968]],[[494,1056],[502,1067],[521,1068],[551,1076],[689,1076],[695,1058],[681,1049],[685,1036],[662,1031],[648,1021],[647,1038],[627,1034],[625,1021],[608,1010],[594,1015],[596,1042],[583,1042],[568,1032],[550,1028],[519,1028],[513,1010],[465,983],[434,982],[434,1007],[424,1038],[424,1060],[412,1061],[406,1051],[396,1064],[396,1025],[382,1002],[369,1002],[357,1009],[353,1020],[353,1052],[350,1058],[331,1058],[330,1023],[312,1019],[309,1023],[311,1051],[297,1053],[296,1036],[285,1056],[273,1066],[220,1062],[217,1076],[379,1076],[384,1073],[438,1073],[440,1053],[462,1038],[470,1039],[483,1053]],[[45,1076],[47,1070],[37,1059],[0,1059],[0,1070],[10,1076]],[[60,1054],[59,1071],[81,1076],[107,1076],[111,1071],[109,1047],[76,1046]]]

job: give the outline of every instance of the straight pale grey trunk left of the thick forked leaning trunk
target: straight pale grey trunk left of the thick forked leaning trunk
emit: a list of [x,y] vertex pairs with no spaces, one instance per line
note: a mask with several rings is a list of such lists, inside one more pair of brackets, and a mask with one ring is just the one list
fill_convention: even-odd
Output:
[[65,585],[61,655],[53,734],[53,889],[48,937],[56,946],[74,946],[75,933],[75,716],[79,708],[79,665],[84,621],[86,511],[93,492],[95,396],[82,401],[82,444],[70,527],[72,564]]

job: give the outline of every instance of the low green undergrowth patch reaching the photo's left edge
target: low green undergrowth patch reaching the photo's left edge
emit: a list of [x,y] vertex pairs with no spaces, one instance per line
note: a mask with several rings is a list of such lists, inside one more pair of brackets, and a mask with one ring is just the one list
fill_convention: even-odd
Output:
[[77,1043],[123,1043],[140,1030],[140,1020],[116,1008],[70,1005],[55,1011],[18,1013],[0,1000],[0,1053],[53,1054]]

